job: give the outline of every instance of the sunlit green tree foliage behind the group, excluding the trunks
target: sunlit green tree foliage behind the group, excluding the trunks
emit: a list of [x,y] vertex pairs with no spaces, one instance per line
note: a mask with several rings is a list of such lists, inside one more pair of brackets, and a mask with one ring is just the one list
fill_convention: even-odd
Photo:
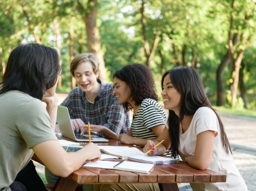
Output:
[[[256,16],[253,12],[255,3],[251,0],[235,0],[232,10],[231,2],[146,1],[145,32],[150,50],[155,35],[159,35],[159,43],[150,68],[160,99],[162,72],[179,64],[191,66],[194,63],[203,79],[208,97],[213,104],[216,103],[216,69],[227,52],[230,13],[233,11],[234,25],[231,31],[243,33],[242,38],[248,41],[238,43],[235,50],[245,49],[242,61],[245,65],[244,82],[249,107],[256,110]],[[78,8],[80,5],[83,7],[82,10]],[[21,42],[34,43],[34,34],[42,43],[56,47],[53,19],[57,19],[61,33],[59,46],[63,64],[63,87],[57,90],[68,92],[71,89],[70,28],[74,30],[74,56],[87,52],[83,18],[89,13],[88,6],[95,6],[98,11],[97,25],[108,81],[112,81],[116,69],[131,63],[145,64],[147,59],[141,22],[142,1],[139,0],[101,0],[96,5],[88,5],[87,0],[0,0],[0,47],[3,49],[1,58],[7,63],[9,49],[13,49]],[[224,73],[226,99],[229,98],[230,70],[228,66]],[[237,107],[243,107],[240,98],[238,101]]]

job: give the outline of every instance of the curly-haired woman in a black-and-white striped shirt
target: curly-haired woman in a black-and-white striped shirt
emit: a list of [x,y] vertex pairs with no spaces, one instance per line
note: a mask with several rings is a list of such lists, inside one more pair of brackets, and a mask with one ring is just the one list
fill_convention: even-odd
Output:
[[151,70],[143,64],[127,65],[116,70],[113,85],[117,101],[125,111],[133,110],[133,121],[127,134],[119,141],[127,145],[144,147],[147,140],[155,141],[165,127],[165,113],[157,103]]

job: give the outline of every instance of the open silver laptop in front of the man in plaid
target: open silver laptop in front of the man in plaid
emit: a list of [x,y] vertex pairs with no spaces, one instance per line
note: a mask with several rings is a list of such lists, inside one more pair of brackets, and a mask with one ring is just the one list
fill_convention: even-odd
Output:
[[[71,140],[74,140],[74,141],[89,142],[89,135],[80,135],[74,132],[67,107],[60,106],[60,105],[58,106],[57,122],[58,122],[58,127],[60,128],[60,131],[62,133],[62,136],[70,138]],[[91,135],[91,141],[92,142],[108,142],[108,139],[99,137],[97,135]]]

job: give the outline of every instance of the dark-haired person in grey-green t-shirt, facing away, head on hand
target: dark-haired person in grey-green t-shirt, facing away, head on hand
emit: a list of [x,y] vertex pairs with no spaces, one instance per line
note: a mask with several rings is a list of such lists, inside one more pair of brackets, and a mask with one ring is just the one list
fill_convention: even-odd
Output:
[[11,52],[0,83],[0,190],[46,190],[30,160],[34,153],[62,177],[101,157],[95,144],[67,153],[57,141],[55,90],[61,69],[57,51],[45,45],[22,44]]

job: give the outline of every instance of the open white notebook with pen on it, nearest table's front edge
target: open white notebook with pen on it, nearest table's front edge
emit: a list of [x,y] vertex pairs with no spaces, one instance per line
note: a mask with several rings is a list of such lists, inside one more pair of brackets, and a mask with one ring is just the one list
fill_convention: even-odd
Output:
[[83,166],[91,167],[91,168],[100,168],[100,169],[130,171],[130,172],[137,172],[137,173],[148,173],[153,168],[154,164],[144,164],[139,162],[125,161],[125,160],[121,162],[98,160],[96,162],[88,162]]

